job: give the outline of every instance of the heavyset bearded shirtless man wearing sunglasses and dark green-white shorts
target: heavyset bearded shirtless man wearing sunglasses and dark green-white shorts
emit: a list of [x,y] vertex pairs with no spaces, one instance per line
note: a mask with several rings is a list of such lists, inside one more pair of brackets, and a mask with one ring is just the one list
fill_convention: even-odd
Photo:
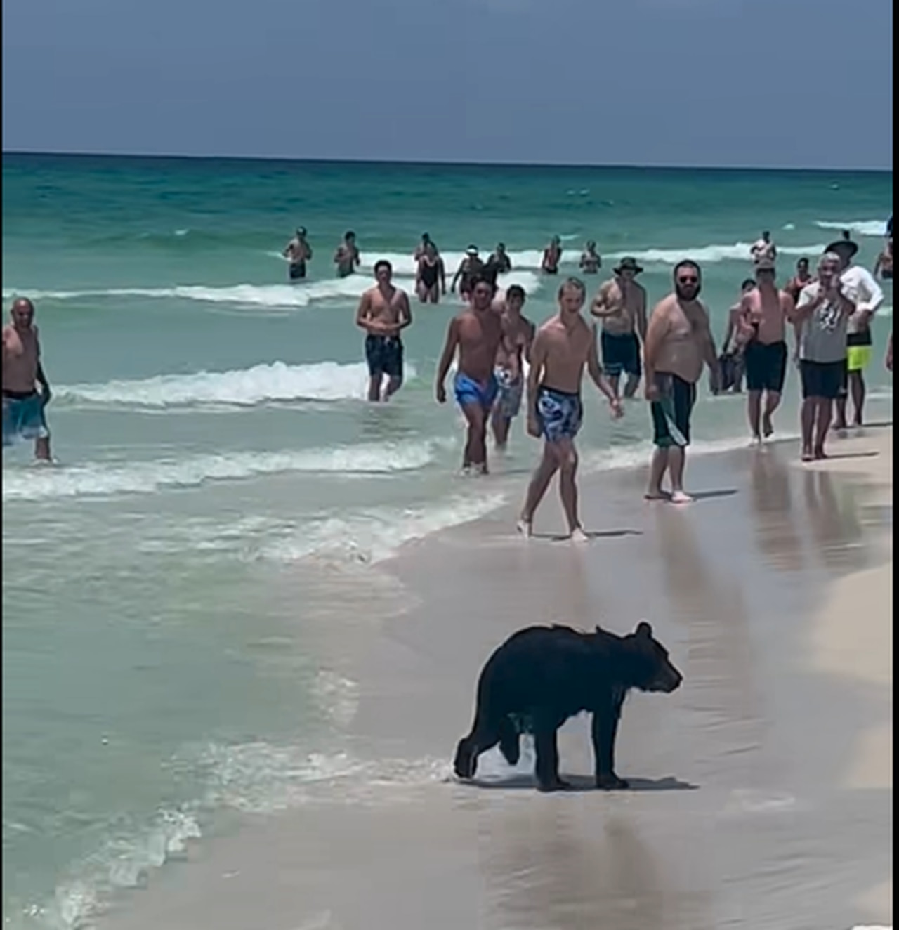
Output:
[[[699,300],[702,275],[694,261],[674,266],[674,293],[656,304],[643,345],[646,366],[646,400],[650,402],[656,446],[650,469],[648,500],[687,503],[683,490],[686,448],[690,445],[690,415],[696,400],[696,382],[708,366],[713,392],[720,372],[708,312]],[[662,490],[668,472],[671,493]]]

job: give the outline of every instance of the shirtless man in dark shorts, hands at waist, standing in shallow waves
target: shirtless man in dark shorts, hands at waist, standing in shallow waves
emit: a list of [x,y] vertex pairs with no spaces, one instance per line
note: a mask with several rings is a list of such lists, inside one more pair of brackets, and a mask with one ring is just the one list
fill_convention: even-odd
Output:
[[[368,399],[389,400],[403,384],[403,340],[400,333],[412,323],[412,310],[405,291],[390,283],[393,269],[381,259],[375,264],[377,285],[359,301],[356,326],[365,333],[365,361],[368,363]],[[381,385],[387,377],[383,394]]]

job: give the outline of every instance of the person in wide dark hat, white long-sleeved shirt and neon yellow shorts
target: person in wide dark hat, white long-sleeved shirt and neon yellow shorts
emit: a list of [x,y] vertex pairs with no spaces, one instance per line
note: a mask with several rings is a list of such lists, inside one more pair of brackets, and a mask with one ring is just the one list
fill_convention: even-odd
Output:
[[846,429],[846,394],[852,395],[853,425],[861,426],[865,416],[865,369],[871,361],[873,339],[871,317],[883,303],[883,289],[866,268],[852,263],[858,246],[843,233],[842,238],[832,242],[826,249],[840,256],[840,281],[843,293],[855,304],[855,312],[846,326],[846,389],[837,398],[837,414],[834,429]]

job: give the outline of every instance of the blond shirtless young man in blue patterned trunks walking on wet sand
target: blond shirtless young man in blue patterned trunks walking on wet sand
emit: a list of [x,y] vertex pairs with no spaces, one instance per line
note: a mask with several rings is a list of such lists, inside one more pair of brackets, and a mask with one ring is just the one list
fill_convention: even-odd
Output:
[[559,472],[562,509],[568,538],[582,542],[587,534],[577,512],[577,449],[575,436],[584,416],[581,383],[584,366],[590,379],[609,400],[614,417],[621,416],[621,402],[602,374],[596,351],[596,325],[581,316],[586,289],[577,278],[559,288],[559,312],[537,330],[531,347],[527,377],[527,432],[543,436],[543,457],[528,485],[519,531],[531,536],[534,514],[547,493],[552,476]]

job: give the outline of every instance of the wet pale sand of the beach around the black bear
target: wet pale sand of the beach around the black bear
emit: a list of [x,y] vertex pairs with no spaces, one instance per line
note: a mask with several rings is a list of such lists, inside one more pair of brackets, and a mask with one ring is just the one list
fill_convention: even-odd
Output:
[[[792,443],[694,458],[700,494],[683,508],[642,501],[643,471],[595,475],[588,544],[552,538],[553,490],[533,540],[507,509],[336,575],[316,648],[358,685],[345,746],[362,767],[192,848],[102,925],[892,923],[892,430],[833,452],[845,458],[801,466]],[[584,720],[560,741],[571,792],[537,793],[529,754],[446,780],[477,674],[511,631],[640,618],[685,682],[628,698],[617,759],[632,790],[591,790]]]

